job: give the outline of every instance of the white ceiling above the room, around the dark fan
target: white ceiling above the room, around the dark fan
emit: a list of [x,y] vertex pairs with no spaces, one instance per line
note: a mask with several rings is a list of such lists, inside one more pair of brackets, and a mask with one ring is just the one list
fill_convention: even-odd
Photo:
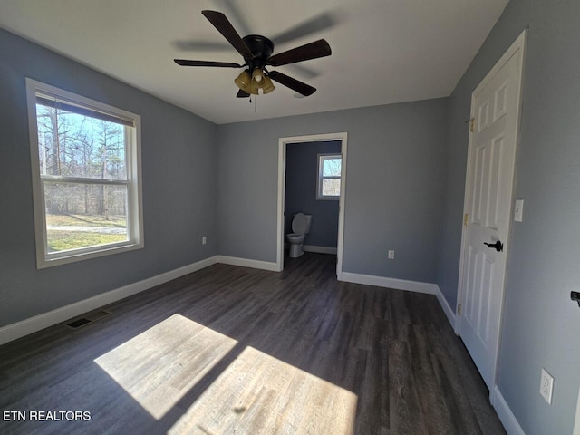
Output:
[[[0,27],[218,124],[449,96],[507,0],[0,0]],[[330,57],[276,68],[318,89],[275,83],[235,98],[241,70],[180,67],[174,58],[243,63],[201,14],[223,12],[244,36],[281,53],[324,38]],[[312,33],[302,29],[318,29]],[[294,29],[294,30],[293,30]],[[301,35],[302,34],[302,35]],[[296,39],[288,36],[298,35]]]

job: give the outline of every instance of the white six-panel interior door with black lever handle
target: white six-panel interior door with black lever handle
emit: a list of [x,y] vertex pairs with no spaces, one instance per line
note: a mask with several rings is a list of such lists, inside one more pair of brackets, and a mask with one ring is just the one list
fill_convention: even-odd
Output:
[[490,391],[504,299],[525,37],[509,48],[471,98],[459,335]]

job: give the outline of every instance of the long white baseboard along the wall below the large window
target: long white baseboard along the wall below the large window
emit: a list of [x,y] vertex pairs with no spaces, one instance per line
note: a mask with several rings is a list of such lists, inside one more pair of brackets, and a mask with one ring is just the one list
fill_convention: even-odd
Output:
[[216,264],[217,256],[206,258],[188,266],[179,267],[164,274],[151,276],[130,285],[124,285],[120,288],[111,290],[101,295],[92,296],[88,299],[76,302],[74,304],[65,305],[48,313],[38,314],[34,317],[24,319],[15,324],[8,324],[0,328],[0,344],[8,343],[16,340],[29,333],[35,333],[41,329],[60,324],[65,320],[71,319],[77,315],[87,313],[104,305],[112,304],[121,299],[136,295],[144,290],[148,290],[156,285],[167,283],[172,279],[179,278],[179,276],[188,275],[205,267]]

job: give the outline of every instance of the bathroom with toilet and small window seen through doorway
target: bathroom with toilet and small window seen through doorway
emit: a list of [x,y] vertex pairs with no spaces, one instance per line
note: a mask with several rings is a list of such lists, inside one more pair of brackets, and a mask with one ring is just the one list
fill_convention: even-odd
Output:
[[[289,244],[289,240],[293,237],[286,236],[286,247],[289,249],[291,258],[301,256],[303,251],[336,254],[341,147],[341,140],[287,144],[285,235],[296,234],[296,228],[298,233],[304,232],[300,227],[304,227],[304,225],[307,227],[308,223],[311,224],[302,243],[295,241],[293,244]],[[304,213],[306,219],[303,218],[300,222],[296,221],[293,229],[293,219],[297,213]],[[309,216],[312,218],[308,218]],[[302,247],[291,246],[295,244],[302,245]]]

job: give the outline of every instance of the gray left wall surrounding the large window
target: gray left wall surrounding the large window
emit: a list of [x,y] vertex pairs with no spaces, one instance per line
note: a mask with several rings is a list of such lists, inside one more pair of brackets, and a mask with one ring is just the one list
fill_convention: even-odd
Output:
[[[2,30],[0,53],[0,326],[217,254],[215,124]],[[36,269],[24,77],[140,114],[145,248]]]

